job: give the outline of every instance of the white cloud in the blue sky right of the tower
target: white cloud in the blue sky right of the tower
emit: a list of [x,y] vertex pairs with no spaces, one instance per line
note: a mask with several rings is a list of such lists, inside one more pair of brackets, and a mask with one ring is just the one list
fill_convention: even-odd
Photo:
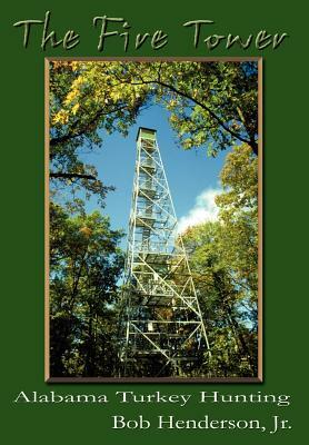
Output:
[[218,207],[215,198],[221,190],[218,188],[208,188],[196,198],[195,206],[188,215],[182,216],[178,222],[178,233],[183,234],[188,227],[197,226],[206,221],[216,221],[218,219]]

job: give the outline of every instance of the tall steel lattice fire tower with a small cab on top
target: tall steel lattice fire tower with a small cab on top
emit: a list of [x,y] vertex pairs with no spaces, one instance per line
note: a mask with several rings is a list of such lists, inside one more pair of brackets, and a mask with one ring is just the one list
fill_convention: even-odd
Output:
[[197,372],[209,344],[156,130],[139,128],[122,298],[124,376]]

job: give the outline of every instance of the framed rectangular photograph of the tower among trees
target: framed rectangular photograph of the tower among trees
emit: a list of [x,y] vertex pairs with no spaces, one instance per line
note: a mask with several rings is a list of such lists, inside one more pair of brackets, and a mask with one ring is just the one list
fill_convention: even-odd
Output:
[[48,61],[48,382],[261,382],[261,78]]

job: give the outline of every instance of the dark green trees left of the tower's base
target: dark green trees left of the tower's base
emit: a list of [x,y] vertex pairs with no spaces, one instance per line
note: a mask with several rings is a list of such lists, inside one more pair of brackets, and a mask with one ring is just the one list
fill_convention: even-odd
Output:
[[50,212],[51,376],[110,376],[122,234],[99,212],[70,217],[56,204]]

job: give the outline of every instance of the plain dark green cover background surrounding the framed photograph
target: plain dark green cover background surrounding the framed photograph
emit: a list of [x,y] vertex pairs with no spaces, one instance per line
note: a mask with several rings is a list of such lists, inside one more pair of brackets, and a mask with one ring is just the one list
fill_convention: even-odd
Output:
[[[291,444],[306,432],[308,344],[308,28],[305,1],[29,1],[9,2],[1,13],[1,419],[7,442],[18,443],[106,443],[134,444]],[[3,8],[3,7],[2,7]],[[22,30],[12,23],[43,19],[51,10],[51,27],[62,37],[67,29],[81,36],[72,51],[39,48],[37,28],[27,50]],[[97,51],[94,16],[124,17],[131,32],[162,29],[169,43],[160,51],[144,46],[127,56],[262,56],[265,107],[265,239],[263,239],[263,356],[262,384],[46,384],[43,382],[43,61],[56,56],[124,56],[120,39],[110,39],[103,53]],[[273,51],[241,51],[235,46],[211,53],[202,46],[195,50],[192,30],[182,23],[211,19],[218,33],[288,32],[289,38]],[[308,32],[307,32],[308,33]],[[221,46],[219,47],[221,48]],[[210,160],[211,161],[211,160]],[[121,210],[120,210],[121,211]],[[307,308],[306,308],[307,306]],[[20,390],[49,390],[61,394],[108,394],[134,389],[169,394],[199,390],[222,393],[289,394],[290,407],[272,405],[219,405],[207,408],[189,404],[185,408],[130,405],[13,404]],[[308,394],[308,393],[307,393]],[[198,418],[260,418],[281,415],[290,419],[291,431],[267,435],[258,431],[112,431],[110,416],[143,413],[176,414]],[[3,429],[2,429],[3,434]]]

